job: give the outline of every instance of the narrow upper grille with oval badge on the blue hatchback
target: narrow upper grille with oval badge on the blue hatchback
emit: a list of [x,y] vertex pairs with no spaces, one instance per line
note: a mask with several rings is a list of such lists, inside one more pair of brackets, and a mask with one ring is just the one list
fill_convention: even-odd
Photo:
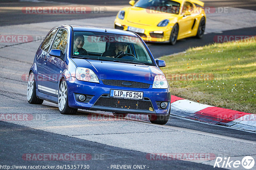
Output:
[[[110,86],[119,86],[119,87],[131,87],[131,88],[141,88],[148,89],[150,84],[141,83],[136,81],[124,81],[124,80],[102,80],[103,84]],[[125,85],[131,84],[131,85]]]

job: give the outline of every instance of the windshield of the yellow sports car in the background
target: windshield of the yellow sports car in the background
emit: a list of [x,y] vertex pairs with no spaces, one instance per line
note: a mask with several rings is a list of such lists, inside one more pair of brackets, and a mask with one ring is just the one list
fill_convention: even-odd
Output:
[[171,0],[140,0],[135,4],[136,7],[147,9],[148,13],[166,12],[179,14],[180,3]]

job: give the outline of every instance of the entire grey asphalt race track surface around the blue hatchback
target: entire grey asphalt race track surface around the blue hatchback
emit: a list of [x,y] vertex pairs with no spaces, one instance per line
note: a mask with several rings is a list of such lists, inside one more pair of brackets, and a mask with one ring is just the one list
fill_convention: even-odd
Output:
[[[72,6],[70,4],[74,4],[73,6],[83,4],[90,7],[107,6],[108,10],[104,14],[90,13],[86,16],[22,15],[21,12],[22,7],[26,6]],[[21,34],[31,32],[33,35],[45,35],[49,31],[48,27],[52,27],[49,25],[57,24],[62,20],[75,22],[74,19],[81,19],[81,21],[99,17],[112,19],[117,11],[127,4],[128,0],[94,0],[93,2],[89,0],[2,0],[0,2],[0,35],[8,35],[10,30],[17,35],[19,31]],[[256,1],[205,1],[205,6],[230,6],[235,7],[234,9],[255,11]],[[49,22],[47,23],[49,25],[43,26],[45,22]],[[25,26],[22,27],[22,25]],[[29,26],[33,28],[32,31]],[[178,41],[175,46],[154,43],[148,45],[157,58],[182,52],[192,46],[212,43],[216,35],[255,35],[255,28],[253,26],[210,32],[201,40],[188,38]],[[35,33],[36,31],[39,33]],[[78,110],[77,115],[61,115],[56,104],[45,101],[42,105],[29,104],[26,99],[27,82],[22,76],[28,74],[40,43],[40,41],[21,44],[0,43],[0,113],[25,114],[33,117],[30,121],[0,121],[0,169],[6,169],[1,167],[4,165],[11,167],[12,165],[89,165],[89,169],[114,169],[111,165],[132,165],[136,166],[132,169],[152,170],[216,169],[213,168],[216,157],[230,157],[230,160],[241,161],[244,156],[252,156],[256,160],[256,133],[252,132],[175,116],[171,116],[165,125],[156,125],[151,124],[145,116],[134,117],[130,114],[124,119],[117,119],[109,112],[86,110]],[[92,118],[95,115],[97,119]],[[87,154],[88,160],[44,159],[39,161],[24,158],[24,155],[43,153],[82,153]],[[162,157],[160,160],[154,160],[155,157],[148,158],[148,153],[183,155],[210,153],[211,157],[190,160],[165,160],[166,157]],[[242,166],[224,168],[244,169]]]

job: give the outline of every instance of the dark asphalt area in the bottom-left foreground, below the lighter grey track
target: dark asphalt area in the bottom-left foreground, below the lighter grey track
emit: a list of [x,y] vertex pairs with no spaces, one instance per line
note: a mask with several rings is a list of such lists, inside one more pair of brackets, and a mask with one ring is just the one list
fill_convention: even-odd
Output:
[[[1,165],[81,165],[77,161],[30,161],[29,163],[20,159],[23,153],[92,153],[92,159],[84,161],[83,164],[90,165],[90,169],[110,169],[111,165],[146,165],[145,169],[214,169],[210,165],[197,164],[181,160],[147,160],[146,153],[131,151],[114,146],[95,143],[87,140],[70,138],[55,133],[35,130],[25,126],[0,122],[1,133],[8,133],[8,138],[1,136],[1,143],[8,144],[1,147]],[[26,135],[24,135],[24,133]],[[36,146],[35,146],[36,143]],[[35,147],[31,147],[34,145]],[[58,147],[56,147],[58,146]],[[10,147],[20,147],[19,152],[10,151]],[[17,148],[18,149],[18,148]],[[6,155],[6,156],[4,156]],[[10,156],[12,155],[12,159]]]

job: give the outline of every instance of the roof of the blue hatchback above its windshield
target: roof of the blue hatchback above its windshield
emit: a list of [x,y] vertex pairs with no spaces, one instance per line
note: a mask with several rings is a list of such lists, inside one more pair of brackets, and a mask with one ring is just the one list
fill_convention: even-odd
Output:
[[137,35],[134,34],[133,32],[112,29],[112,28],[86,26],[86,25],[70,25],[70,26],[73,28],[74,31],[94,31],[94,32],[106,32],[107,31],[108,33],[137,37]]

